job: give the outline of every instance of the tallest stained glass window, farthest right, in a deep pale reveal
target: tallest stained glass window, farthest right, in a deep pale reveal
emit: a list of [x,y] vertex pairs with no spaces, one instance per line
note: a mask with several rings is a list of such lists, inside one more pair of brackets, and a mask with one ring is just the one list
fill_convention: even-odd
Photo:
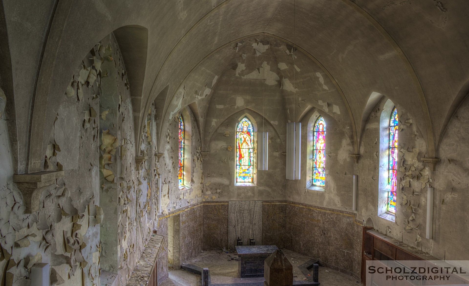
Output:
[[396,212],[396,191],[397,191],[397,109],[393,108],[391,118],[389,119],[389,164],[388,164],[388,198],[387,211],[395,214]]

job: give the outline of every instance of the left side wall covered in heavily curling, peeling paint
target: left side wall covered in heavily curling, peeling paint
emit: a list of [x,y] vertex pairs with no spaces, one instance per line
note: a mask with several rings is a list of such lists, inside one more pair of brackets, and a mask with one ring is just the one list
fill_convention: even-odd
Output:
[[[151,164],[135,162],[131,110],[122,57],[107,36],[76,70],[50,135],[44,170],[63,170],[65,177],[44,190],[41,208],[30,215],[9,182],[11,170],[1,187],[1,214],[9,214],[1,228],[6,285],[30,285],[28,270],[38,262],[50,263],[56,285],[100,285],[100,262],[118,274],[117,285],[126,284],[153,229],[156,194]],[[11,162],[8,141],[1,140],[2,162]],[[146,140],[141,149],[151,146]]]

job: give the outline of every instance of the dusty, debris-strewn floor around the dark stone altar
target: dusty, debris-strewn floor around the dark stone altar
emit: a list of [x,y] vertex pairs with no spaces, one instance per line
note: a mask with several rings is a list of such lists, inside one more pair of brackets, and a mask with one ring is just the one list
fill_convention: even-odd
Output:
[[[290,263],[293,265],[293,279],[304,280],[303,273],[298,266],[310,260],[310,257],[282,249]],[[237,255],[219,251],[203,251],[200,255],[185,263],[199,267],[208,267],[212,283],[240,283],[262,282],[264,278],[239,278]],[[311,270],[312,271],[312,270]],[[323,286],[356,286],[356,278],[339,273],[327,267],[319,267],[319,282]],[[200,275],[195,275],[183,270],[170,270],[169,278],[159,284],[160,286],[199,286],[202,285]]]

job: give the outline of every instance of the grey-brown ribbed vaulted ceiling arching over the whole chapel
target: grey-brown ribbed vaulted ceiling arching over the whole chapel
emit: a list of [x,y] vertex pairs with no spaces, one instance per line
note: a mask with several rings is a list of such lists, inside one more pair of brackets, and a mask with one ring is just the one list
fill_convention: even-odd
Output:
[[[343,105],[340,120],[348,122],[355,149],[364,110],[375,92],[412,114],[427,140],[429,156],[436,156],[439,137],[469,90],[469,3],[465,0],[2,3],[12,63],[12,80],[3,85],[10,85],[15,95],[18,134],[31,130],[29,139],[18,138],[20,147],[29,146],[29,155],[18,147],[20,158],[29,157],[28,167],[24,166],[29,171],[41,166],[41,150],[76,67],[100,39],[129,25],[138,29],[127,29],[119,37],[136,39],[135,47],[134,41],[127,43],[128,57],[136,61],[126,62],[126,68],[140,70],[136,85],[141,85],[141,93],[132,94],[137,130],[151,103],[156,103],[164,125],[183,103],[197,102],[206,88],[215,88],[215,77],[221,77],[234,61],[242,63],[240,56],[248,52],[240,49],[256,53],[252,44],[259,40],[277,45],[282,56],[295,46],[302,54],[295,60],[310,65],[305,78],[314,78],[315,69],[322,70],[324,80],[333,86],[333,96],[340,99],[340,104],[334,104]],[[142,60],[145,52],[146,61]],[[273,49],[270,53],[277,54]],[[250,69],[262,67],[259,61]],[[282,77],[292,77],[288,74],[292,71],[274,71],[281,76],[279,85]],[[2,78],[7,77],[2,74]],[[301,76],[296,82],[298,93],[307,93],[309,87],[299,84]],[[298,120],[308,104],[296,108],[296,118],[287,120]],[[198,112],[200,120],[206,118],[206,111]]]

